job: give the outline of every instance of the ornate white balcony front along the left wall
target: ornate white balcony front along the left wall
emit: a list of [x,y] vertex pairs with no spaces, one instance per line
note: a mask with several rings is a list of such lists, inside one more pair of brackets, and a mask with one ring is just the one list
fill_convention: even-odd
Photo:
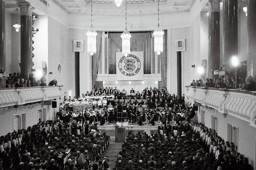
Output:
[[0,108],[52,100],[64,96],[63,86],[16,87],[0,89]]

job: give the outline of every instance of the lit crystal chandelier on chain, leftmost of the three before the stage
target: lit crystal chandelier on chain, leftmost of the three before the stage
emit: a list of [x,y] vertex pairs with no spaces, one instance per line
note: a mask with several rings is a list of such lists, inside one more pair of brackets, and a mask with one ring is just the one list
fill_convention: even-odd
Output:
[[86,32],[87,35],[87,52],[90,53],[90,55],[93,55],[96,53],[96,36],[97,32],[92,27],[92,1],[91,1],[91,27]]

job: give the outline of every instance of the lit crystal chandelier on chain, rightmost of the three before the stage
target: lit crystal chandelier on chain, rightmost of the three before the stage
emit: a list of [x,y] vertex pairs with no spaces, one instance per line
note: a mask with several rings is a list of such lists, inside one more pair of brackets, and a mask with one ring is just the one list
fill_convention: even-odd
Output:
[[158,0],[158,25],[157,25],[155,31],[153,32],[153,35],[155,37],[155,40],[154,40],[155,41],[154,42],[155,49],[154,49],[154,51],[157,52],[157,55],[160,55],[161,52],[163,52],[164,31],[159,26],[159,0]]

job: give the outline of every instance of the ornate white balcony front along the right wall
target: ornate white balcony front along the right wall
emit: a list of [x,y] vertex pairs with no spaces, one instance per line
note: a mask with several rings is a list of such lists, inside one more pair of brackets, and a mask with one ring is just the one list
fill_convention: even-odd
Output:
[[185,86],[186,98],[256,127],[256,92]]

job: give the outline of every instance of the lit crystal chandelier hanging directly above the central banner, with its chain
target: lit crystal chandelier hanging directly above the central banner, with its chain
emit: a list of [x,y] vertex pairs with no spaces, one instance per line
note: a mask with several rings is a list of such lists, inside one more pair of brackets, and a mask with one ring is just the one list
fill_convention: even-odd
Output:
[[126,13],[126,0],[125,0],[125,29],[124,32],[121,34],[121,38],[122,38],[122,53],[124,54],[125,57],[127,57],[127,55],[129,53],[131,53],[131,43],[130,43],[130,39],[131,39],[131,34],[129,33],[129,31],[127,30],[127,13]]

